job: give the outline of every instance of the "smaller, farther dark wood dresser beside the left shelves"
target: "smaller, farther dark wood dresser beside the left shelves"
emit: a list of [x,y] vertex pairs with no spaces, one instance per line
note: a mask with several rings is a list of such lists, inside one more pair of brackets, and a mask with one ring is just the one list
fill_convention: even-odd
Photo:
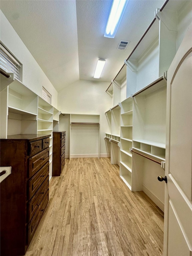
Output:
[[66,131],[53,131],[52,176],[60,176],[65,165]]

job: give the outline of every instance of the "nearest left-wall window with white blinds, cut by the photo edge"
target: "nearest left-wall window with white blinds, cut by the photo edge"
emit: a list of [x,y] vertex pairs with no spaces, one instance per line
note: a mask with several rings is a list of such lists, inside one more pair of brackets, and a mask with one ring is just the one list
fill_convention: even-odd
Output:
[[15,77],[20,81],[19,68],[21,63],[19,63],[7,49],[0,44],[0,68],[7,73],[14,73]]

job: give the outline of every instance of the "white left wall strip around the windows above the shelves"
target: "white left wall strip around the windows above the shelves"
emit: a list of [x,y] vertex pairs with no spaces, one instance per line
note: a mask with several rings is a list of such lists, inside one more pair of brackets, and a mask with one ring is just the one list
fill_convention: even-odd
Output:
[[0,40],[22,63],[22,83],[42,97],[42,86],[52,95],[52,105],[57,108],[57,91],[17,35],[4,14],[0,13]]

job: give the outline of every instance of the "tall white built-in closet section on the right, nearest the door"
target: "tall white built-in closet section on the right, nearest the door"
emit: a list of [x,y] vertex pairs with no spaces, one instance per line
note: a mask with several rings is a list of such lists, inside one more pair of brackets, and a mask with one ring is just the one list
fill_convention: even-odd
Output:
[[[125,61],[120,176],[131,191],[143,190],[162,210],[164,182],[157,177],[164,176],[167,70],[190,23],[190,1],[166,2]],[[113,96],[111,86],[108,94]]]

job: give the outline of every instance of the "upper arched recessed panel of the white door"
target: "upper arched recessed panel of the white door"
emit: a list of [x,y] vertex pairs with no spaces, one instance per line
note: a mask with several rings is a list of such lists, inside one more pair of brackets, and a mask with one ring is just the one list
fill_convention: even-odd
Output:
[[[192,56],[182,62],[171,84],[170,170],[191,200]],[[182,173],[182,175],[181,175]]]

